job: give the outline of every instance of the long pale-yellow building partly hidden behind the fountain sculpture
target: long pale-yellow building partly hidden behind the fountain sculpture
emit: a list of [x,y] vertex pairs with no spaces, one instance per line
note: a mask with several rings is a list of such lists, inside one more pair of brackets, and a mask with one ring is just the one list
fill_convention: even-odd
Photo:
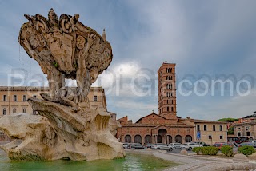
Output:
[[[13,113],[37,114],[31,108],[27,99],[36,97],[42,99],[40,93],[49,92],[48,87],[10,87],[0,86],[0,117]],[[102,87],[91,87],[88,94],[91,108],[102,107],[106,109],[106,97]],[[107,110],[107,109],[106,109]],[[116,121],[116,114],[110,113],[110,132],[116,135],[116,129],[120,126]],[[8,137],[0,130],[0,141],[9,141]]]

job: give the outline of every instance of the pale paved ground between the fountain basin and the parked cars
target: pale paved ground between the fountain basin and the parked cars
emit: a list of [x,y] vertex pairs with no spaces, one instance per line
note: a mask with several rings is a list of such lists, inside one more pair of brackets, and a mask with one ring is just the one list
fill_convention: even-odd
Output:
[[166,169],[165,171],[226,171],[226,170],[256,170],[253,163],[233,162],[232,157],[209,157],[200,156],[190,153],[189,156],[178,154],[178,150],[174,153],[167,153],[165,150],[140,150],[126,149],[127,153],[148,153],[153,154],[165,160],[174,161],[181,164],[177,167]]

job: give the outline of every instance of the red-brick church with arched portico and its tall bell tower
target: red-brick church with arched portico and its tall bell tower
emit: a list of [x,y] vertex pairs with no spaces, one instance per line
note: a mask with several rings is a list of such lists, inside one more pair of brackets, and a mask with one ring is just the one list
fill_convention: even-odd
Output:
[[194,141],[194,121],[177,117],[174,63],[163,63],[158,70],[158,113],[150,113],[135,123],[122,117],[117,137],[122,142],[171,143]]

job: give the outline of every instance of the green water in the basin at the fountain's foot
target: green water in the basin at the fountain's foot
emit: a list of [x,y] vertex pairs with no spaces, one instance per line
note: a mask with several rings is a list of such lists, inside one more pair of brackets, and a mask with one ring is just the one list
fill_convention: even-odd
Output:
[[10,161],[0,152],[0,171],[150,171],[163,170],[177,165],[153,155],[127,153],[125,159],[98,161]]

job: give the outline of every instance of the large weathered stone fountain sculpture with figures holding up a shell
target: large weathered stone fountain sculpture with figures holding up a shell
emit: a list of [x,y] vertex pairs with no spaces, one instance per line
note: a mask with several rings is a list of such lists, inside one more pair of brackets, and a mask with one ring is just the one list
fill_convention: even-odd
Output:
[[[47,75],[50,93],[28,102],[38,115],[16,114],[0,119],[0,129],[14,141],[1,148],[12,160],[68,158],[91,161],[124,157],[122,144],[110,133],[110,113],[90,109],[88,93],[98,74],[112,61],[112,49],[102,36],[78,21],[79,15],[51,9],[48,19],[25,15],[18,42]],[[66,87],[65,78],[77,87]]]

